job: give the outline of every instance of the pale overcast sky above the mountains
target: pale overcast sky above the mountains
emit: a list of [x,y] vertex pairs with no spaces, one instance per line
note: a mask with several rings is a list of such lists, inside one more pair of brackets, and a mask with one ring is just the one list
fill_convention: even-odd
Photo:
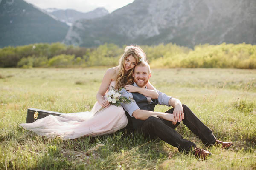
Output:
[[25,0],[41,9],[75,9],[80,12],[92,11],[97,7],[105,7],[110,13],[134,0]]

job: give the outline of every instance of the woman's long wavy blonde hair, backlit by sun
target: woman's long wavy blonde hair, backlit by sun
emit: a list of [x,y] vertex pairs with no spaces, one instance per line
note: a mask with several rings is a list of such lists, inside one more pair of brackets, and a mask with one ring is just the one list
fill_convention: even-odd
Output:
[[132,74],[134,72],[134,68],[127,71],[125,74],[125,60],[127,57],[132,56],[136,59],[136,65],[139,62],[143,62],[146,60],[146,54],[139,46],[130,45],[125,47],[125,52],[119,59],[118,69],[116,71],[116,89],[122,88],[125,85],[133,84]]

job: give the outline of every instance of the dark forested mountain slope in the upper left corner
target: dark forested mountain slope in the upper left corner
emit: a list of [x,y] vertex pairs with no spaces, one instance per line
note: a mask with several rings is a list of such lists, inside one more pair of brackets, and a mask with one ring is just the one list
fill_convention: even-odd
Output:
[[23,0],[0,2],[0,48],[61,42],[69,26]]

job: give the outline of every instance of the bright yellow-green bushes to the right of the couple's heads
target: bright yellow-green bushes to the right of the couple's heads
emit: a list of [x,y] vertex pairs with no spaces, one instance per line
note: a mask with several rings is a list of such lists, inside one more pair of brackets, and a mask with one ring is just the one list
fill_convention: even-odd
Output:
[[152,67],[166,68],[256,68],[256,45],[197,45],[194,50],[166,52],[151,61]]

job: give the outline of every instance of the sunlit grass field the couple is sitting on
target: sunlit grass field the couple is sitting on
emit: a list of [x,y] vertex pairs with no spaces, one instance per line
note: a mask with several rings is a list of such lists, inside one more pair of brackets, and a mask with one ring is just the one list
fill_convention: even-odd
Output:
[[136,133],[63,141],[19,126],[27,108],[90,111],[106,69],[0,68],[0,169],[256,169],[256,70],[152,70],[157,89],[189,106],[218,139],[234,143],[230,150],[207,148],[180,124],[185,139],[212,152],[206,161]]

